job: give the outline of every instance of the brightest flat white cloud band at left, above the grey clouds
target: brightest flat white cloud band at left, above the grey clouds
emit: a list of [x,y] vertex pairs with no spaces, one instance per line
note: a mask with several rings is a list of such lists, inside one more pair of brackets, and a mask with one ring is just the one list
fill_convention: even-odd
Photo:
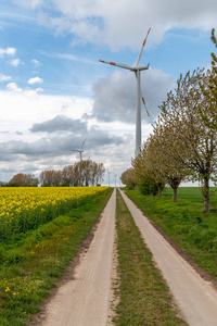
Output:
[[[8,84],[8,89],[13,90],[16,88],[18,86],[15,83]],[[28,90],[16,93],[0,91],[0,98],[4,108],[1,112],[1,120],[11,121],[11,126],[15,130],[20,125],[25,124],[30,127],[29,125],[36,122],[41,123],[59,114],[80,118],[85,112],[90,112],[92,108],[90,99],[29,93]]]

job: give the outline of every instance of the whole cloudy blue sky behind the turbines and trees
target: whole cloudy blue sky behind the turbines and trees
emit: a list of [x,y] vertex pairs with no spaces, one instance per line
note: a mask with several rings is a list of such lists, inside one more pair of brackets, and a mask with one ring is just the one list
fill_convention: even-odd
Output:
[[136,78],[99,60],[141,65],[142,141],[180,74],[210,65],[216,0],[1,0],[0,180],[82,159],[119,185],[135,156]]

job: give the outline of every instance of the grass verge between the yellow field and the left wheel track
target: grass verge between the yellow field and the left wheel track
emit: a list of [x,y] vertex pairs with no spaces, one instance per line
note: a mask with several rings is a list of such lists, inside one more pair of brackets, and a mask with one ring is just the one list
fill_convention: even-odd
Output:
[[99,218],[112,188],[29,231],[16,248],[0,247],[0,325],[24,326],[64,274]]

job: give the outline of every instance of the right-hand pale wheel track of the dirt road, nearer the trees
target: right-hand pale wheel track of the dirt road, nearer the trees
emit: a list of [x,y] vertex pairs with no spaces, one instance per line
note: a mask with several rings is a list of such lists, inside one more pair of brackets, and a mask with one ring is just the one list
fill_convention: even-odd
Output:
[[192,326],[216,326],[216,290],[171,248],[123,191],[122,196],[187,323]]

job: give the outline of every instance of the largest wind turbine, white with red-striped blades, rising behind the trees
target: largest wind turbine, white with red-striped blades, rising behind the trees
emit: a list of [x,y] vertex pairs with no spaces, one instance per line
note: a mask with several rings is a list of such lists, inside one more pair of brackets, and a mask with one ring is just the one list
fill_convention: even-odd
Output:
[[139,55],[137,58],[137,61],[136,61],[135,65],[130,66],[130,65],[127,65],[127,64],[107,62],[107,61],[100,60],[100,62],[102,62],[102,63],[107,63],[107,64],[111,64],[111,65],[115,65],[115,66],[128,70],[130,72],[135,72],[135,75],[136,75],[136,78],[137,78],[136,155],[139,154],[140,149],[141,149],[141,98],[142,98],[142,102],[144,104],[144,108],[146,110],[146,114],[150,116],[149,111],[146,109],[144,98],[143,98],[142,92],[141,92],[141,83],[140,83],[140,72],[148,70],[150,64],[139,65],[140,59],[142,57],[142,51],[144,49],[144,46],[145,46],[148,36],[150,34],[150,30],[151,30],[151,28],[148,30],[146,37],[145,37],[145,39],[142,43],[142,48],[139,52]]

